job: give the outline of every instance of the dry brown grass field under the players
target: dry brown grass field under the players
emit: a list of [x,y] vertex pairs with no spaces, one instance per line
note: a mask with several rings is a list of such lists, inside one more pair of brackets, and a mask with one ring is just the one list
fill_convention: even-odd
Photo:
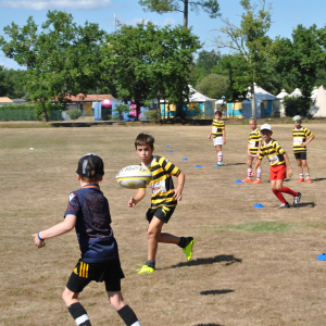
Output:
[[[141,325],[325,325],[326,262],[315,259],[326,251],[326,124],[306,126],[316,135],[309,145],[311,185],[296,184],[292,126],[273,125],[294,172],[285,185],[302,192],[299,208],[287,210],[277,209],[266,159],[261,185],[235,184],[247,175],[246,125],[226,125],[226,166],[218,168],[212,166],[210,126],[0,128],[0,325],[75,325],[61,293],[79,258],[76,235],[37,250],[32,234],[62,221],[68,193],[79,186],[77,161],[88,152],[105,164],[101,189],[126,276],[123,294]],[[147,258],[150,191],[129,210],[136,191],[115,181],[118,170],[139,163],[134,140],[141,131],[155,137],[154,153],[186,174],[184,198],[165,231],[196,239],[188,263],[178,247],[159,246],[158,269],[150,275],[135,272]],[[264,209],[253,209],[256,203]],[[92,325],[123,325],[102,284],[91,284],[79,298]]]

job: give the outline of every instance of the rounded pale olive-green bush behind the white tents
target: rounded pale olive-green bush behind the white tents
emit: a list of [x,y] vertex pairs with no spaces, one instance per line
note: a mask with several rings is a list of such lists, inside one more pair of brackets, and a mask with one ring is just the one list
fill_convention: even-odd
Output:
[[229,87],[227,76],[211,74],[196,85],[196,89],[211,99],[221,99]]

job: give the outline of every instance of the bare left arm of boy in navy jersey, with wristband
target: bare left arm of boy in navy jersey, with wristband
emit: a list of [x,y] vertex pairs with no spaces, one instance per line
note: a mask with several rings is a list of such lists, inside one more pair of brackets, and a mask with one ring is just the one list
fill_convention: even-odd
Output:
[[[34,237],[34,243],[37,248],[45,247],[46,239],[59,237],[61,235],[64,235],[68,231],[71,231],[76,224],[77,217],[73,214],[68,214],[65,216],[64,221],[53,225],[52,227],[41,230],[38,234],[32,235]],[[40,240],[40,239],[42,240]]]

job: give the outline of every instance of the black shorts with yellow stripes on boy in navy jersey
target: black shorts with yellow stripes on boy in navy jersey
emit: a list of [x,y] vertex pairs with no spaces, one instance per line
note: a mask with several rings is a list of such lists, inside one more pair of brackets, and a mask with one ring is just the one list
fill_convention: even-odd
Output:
[[124,278],[120,260],[104,263],[84,263],[78,261],[66,287],[74,293],[79,293],[92,280],[105,281],[106,291],[121,291],[121,279]]

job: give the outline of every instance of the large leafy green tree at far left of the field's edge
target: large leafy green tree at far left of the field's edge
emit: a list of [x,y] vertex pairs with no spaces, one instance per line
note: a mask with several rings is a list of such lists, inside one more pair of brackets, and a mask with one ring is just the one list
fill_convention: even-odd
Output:
[[30,16],[23,27],[14,23],[4,27],[10,41],[0,37],[4,54],[27,67],[25,87],[30,99],[41,105],[45,121],[51,108],[48,103],[64,102],[67,95],[87,93],[106,78],[100,70],[105,32],[88,22],[77,26],[71,14],[61,11],[49,11],[47,17],[40,30]]

